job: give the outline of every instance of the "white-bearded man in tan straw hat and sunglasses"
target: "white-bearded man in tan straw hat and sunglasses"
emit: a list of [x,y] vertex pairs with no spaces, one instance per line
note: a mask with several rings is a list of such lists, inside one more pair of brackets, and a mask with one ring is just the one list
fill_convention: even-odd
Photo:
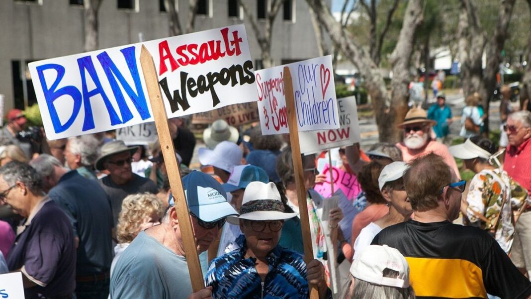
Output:
[[402,151],[402,158],[406,163],[433,152],[441,156],[459,176],[456,160],[450,155],[448,147],[431,138],[431,127],[435,124],[437,122],[427,118],[424,109],[409,110],[404,122],[398,125],[404,130],[404,141],[397,143],[396,146]]

